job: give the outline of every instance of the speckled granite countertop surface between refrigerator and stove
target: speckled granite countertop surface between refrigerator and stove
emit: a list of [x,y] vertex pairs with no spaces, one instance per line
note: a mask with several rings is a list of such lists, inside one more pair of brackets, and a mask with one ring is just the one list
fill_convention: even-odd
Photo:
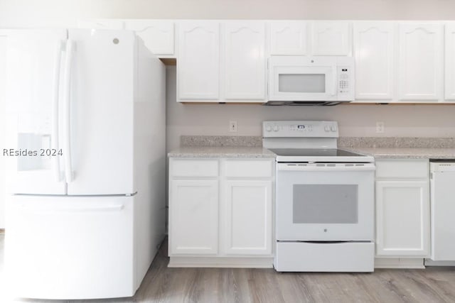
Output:
[[168,153],[176,158],[275,158],[267,148],[247,146],[183,146]]

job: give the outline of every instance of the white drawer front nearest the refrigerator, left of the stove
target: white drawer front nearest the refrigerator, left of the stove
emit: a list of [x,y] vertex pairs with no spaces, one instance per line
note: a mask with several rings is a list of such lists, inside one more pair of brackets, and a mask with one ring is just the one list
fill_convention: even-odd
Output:
[[218,177],[218,160],[171,160],[171,177]]

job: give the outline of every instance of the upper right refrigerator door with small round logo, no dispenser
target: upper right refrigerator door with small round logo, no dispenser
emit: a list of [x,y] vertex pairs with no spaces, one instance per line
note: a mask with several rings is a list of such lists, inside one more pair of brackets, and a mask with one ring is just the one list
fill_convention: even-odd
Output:
[[68,33],[74,48],[68,194],[132,194],[134,33],[87,29]]

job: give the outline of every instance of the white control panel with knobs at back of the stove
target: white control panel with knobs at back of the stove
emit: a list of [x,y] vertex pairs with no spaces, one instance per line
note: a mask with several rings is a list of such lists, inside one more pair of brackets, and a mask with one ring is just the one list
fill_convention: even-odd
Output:
[[338,138],[336,121],[263,121],[263,138]]

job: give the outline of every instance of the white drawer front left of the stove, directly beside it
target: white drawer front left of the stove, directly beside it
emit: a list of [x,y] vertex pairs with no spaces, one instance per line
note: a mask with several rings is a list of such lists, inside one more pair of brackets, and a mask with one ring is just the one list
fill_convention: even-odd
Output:
[[272,177],[272,160],[227,160],[226,177]]

